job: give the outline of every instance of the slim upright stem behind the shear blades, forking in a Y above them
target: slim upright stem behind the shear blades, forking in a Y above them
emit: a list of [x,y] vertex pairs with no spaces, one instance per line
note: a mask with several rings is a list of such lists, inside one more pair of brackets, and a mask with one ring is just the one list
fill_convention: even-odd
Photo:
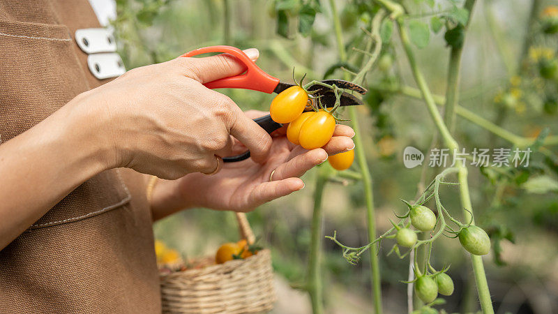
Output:
[[[347,53],[345,52],[345,45],[343,44],[341,22],[337,8],[335,7],[335,1],[329,0],[329,5],[331,7],[331,13],[333,16],[333,25],[335,28],[335,40],[337,41],[339,57],[341,62],[347,61]],[[396,6],[399,4],[395,3]],[[372,57],[361,68],[359,73],[356,74],[353,81],[356,84],[361,83],[364,80],[366,73],[372,68],[379,52],[382,50],[382,38],[379,36],[379,28],[386,14],[385,10],[379,10],[375,17],[372,19],[371,35],[370,40],[375,40],[375,50],[372,52]],[[370,49],[370,45],[367,46]],[[345,73],[345,78],[349,77],[349,73]],[[372,240],[376,238],[376,221],[375,221],[375,209],[374,209],[374,195],[372,190],[372,176],[370,175],[370,170],[368,169],[368,162],[364,154],[364,145],[361,136],[361,130],[359,126],[359,117],[354,107],[349,108],[349,114],[352,119],[352,128],[354,129],[355,136],[353,137],[356,147],[361,147],[361,149],[356,149],[356,160],[359,163],[359,167],[362,174],[362,183],[365,194],[365,204],[366,204],[366,218],[368,225],[368,239]],[[370,250],[370,271],[371,271],[371,281],[372,281],[372,297],[374,299],[375,313],[382,313],[382,286],[379,273],[379,262],[377,256],[377,250],[372,248]]]

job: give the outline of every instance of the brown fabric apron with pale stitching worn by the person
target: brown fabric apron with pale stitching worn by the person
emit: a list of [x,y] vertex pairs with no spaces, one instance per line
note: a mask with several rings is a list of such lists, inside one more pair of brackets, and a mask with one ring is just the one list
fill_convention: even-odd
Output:
[[[106,82],[73,40],[89,27],[100,26],[87,0],[0,0],[1,142]],[[0,313],[160,312],[142,178],[98,174],[3,248]]]

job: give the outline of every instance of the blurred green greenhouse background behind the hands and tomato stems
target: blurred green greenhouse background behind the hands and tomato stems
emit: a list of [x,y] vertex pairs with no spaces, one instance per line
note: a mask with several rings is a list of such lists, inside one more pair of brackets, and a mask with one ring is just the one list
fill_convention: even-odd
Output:
[[[297,19],[291,17],[287,24],[282,24],[287,27],[282,30],[287,31],[287,38],[276,29],[277,6],[296,6],[300,1],[116,2],[118,18],[113,24],[128,69],[167,61],[209,45],[256,47],[260,51],[259,66],[288,82],[292,80],[293,67],[298,77],[307,73],[311,80],[322,80],[324,73],[339,63],[331,8],[325,0],[320,2],[321,12],[316,15],[308,36],[299,33]],[[354,38],[358,43],[359,36],[363,36],[361,27],[370,27],[371,16],[359,11],[359,6],[366,2],[335,1],[347,43],[353,43]],[[443,8],[446,2],[452,1],[436,2]],[[437,6],[431,8],[423,1],[403,3],[418,20],[428,22],[430,13],[438,11]],[[538,11],[530,17],[534,3]],[[557,35],[547,38],[526,33],[527,25],[536,23],[540,11],[551,4],[557,5],[555,1],[477,1],[467,33],[460,105],[522,137],[536,137],[545,128],[549,128],[550,135],[558,134],[558,115],[545,110],[548,109],[545,102],[558,97],[558,83],[555,81],[554,87],[541,87],[543,83],[552,83],[542,82],[529,67],[521,70],[524,51],[527,60],[530,58],[533,62],[541,54],[556,59]],[[292,10],[296,11],[296,7]],[[368,106],[359,108],[365,145],[356,147],[368,156],[378,234],[391,227],[389,218],[393,219],[394,212],[405,212],[405,204],[400,199],[413,200],[421,188],[418,182],[428,184],[441,171],[435,167],[407,169],[402,163],[405,147],[416,147],[426,153],[439,139],[434,137],[435,126],[421,99],[387,91],[393,86],[416,87],[395,29],[392,36],[391,45],[382,51],[382,56],[389,55],[389,59],[386,57],[383,61],[393,60],[393,66],[375,68],[367,76],[365,86],[370,93],[365,100]],[[349,60],[362,57],[348,48]],[[444,33],[431,33],[428,46],[415,51],[432,92],[443,95],[449,51]],[[333,68],[329,78],[342,78],[343,74],[340,68]],[[221,92],[243,110],[268,110],[273,99],[273,95],[257,91],[230,89]],[[341,117],[347,119],[347,114],[342,112]],[[512,148],[509,142],[460,117],[456,129],[459,130],[456,137],[467,151],[475,147]],[[535,169],[527,174],[502,174],[469,167],[476,223],[487,230],[492,246],[497,249],[483,257],[497,313],[558,313],[556,152],[557,147],[548,146],[545,154],[531,156]],[[260,237],[259,243],[272,251],[279,287],[274,313],[311,311],[306,294],[291,286],[296,287],[306,276],[315,176],[316,171],[312,170],[303,177],[306,188],[299,193],[265,204],[248,214],[255,234]],[[461,212],[456,188],[444,188],[442,197],[446,208]],[[336,230],[338,239],[344,244],[363,246],[368,243],[360,183],[343,178],[329,183],[323,206],[324,236]],[[186,258],[213,255],[220,244],[239,239],[233,213],[208,209],[190,209],[158,221],[155,234],[156,239]],[[394,254],[386,256],[390,249],[389,240],[382,241],[379,260],[384,310],[405,313],[407,285],[401,281],[407,280],[409,262]],[[326,313],[372,312],[368,254],[363,255],[359,264],[352,265],[332,241],[324,239],[323,250]],[[443,306],[450,313],[480,309],[470,262],[463,252],[458,241],[445,238],[435,242],[433,250],[433,263],[440,268],[451,264],[448,274],[455,281],[455,293],[445,298],[447,304]]]

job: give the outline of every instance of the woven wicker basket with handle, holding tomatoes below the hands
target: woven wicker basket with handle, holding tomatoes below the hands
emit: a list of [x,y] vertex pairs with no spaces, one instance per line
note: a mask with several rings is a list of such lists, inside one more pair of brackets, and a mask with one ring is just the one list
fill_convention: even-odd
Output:
[[[236,218],[241,236],[253,243],[245,214]],[[269,250],[244,260],[160,274],[160,285],[164,313],[261,313],[271,311],[276,301]]]

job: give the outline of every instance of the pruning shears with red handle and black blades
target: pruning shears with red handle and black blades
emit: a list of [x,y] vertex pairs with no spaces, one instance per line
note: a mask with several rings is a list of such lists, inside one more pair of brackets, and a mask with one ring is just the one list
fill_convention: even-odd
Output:
[[[264,70],[259,68],[256,63],[252,61],[252,59],[250,59],[250,57],[248,57],[242,50],[236,47],[225,45],[203,47],[187,52],[181,57],[194,57],[198,54],[206,54],[212,52],[231,54],[233,57],[239,59],[239,61],[241,61],[246,66],[246,72],[240,75],[225,77],[212,82],[207,82],[206,84],[204,84],[204,86],[209,89],[251,89],[252,91],[262,91],[267,94],[279,94],[280,92],[285,91],[285,89],[295,86],[294,84],[281,82],[277,77],[269,75]],[[347,82],[345,80],[323,80],[322,82],[329,85],[335,85],[339,89],[355,91],[356,93],[359,93],[361,95],[364,95],[367,92],[367,90],[363,87],[352,82]],[[312,85],[309,90],[313,92],[312,95],[319,97],[320,101],[325,107],[333,107],[333,104],[335,104],[335,101],[337,100],[335,94],[333,93],[333,91],[331,91],[331,89],[323,87],[319,84]],[[340,106],[363,104],[362,100],[356,98],[356,96],[352,94],[347,93],[346,91],[342,91],[339,100]],[[307,106],[304,111],[307,112],[312,110],[312,107]],[[278,130],[283,126],[282,124],[278,124],[276,121],[273,121],[269,114],[264,117],[254,119],[254,121],[264,130],[266,130],[267,133],[272,133],[273,131]],[[238,156],[224,157],[223,161],[225,163],[231,163],[235,161],[245,160],[249,157],[250,151],[246,151],[245,153]]]

